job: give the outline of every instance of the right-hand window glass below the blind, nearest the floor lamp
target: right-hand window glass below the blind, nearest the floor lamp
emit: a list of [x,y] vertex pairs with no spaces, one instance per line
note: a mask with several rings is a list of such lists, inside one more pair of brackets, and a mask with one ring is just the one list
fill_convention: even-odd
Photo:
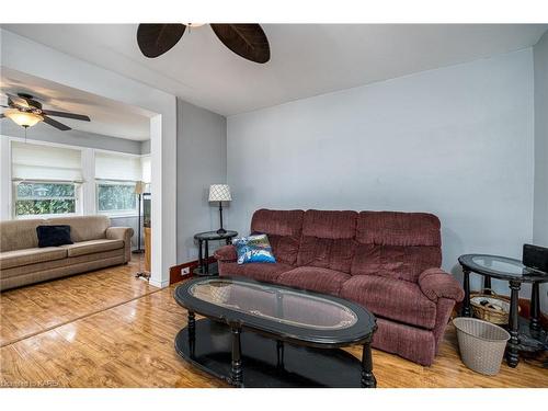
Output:
[[99,213],[137,213],[135,182],[100,181],[96,184],[96,196]]

